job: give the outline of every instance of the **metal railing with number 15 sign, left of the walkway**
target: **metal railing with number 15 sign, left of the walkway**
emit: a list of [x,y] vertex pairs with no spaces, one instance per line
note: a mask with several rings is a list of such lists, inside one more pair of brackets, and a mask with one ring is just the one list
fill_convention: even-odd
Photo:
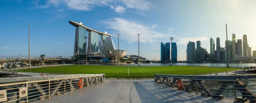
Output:
[[[74,89],[80,89],[78,83],[82,79],[88,87],[102,83],[105,74],[81,74],[81,75],[55,75],[55,76],[34,76],[17,78],[0,78],[0,91],[6,91],[7,101],[1,103],[23,103],[37,99],[51,98],[54,94],[66,94]],[[13,80],[17,80],[13,82]],[[22,82],[23,80],[27,80]],[[9,83],[8,83],[9,82]],[[21,90],[27,88],[27,96],[22,96]],[[1,99],[0,99],[1,100]]]

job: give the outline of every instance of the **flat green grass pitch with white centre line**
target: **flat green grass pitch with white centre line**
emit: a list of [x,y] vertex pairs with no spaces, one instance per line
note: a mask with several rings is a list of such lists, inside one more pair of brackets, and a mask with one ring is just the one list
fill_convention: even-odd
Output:
[[70,65],[32,68],[19,71],[58,74],[105,74],[106,78],[153,78],[154,74],[198,75],[231,70],[239,69],[198,66],[129,66],[129,76],[128,66]]

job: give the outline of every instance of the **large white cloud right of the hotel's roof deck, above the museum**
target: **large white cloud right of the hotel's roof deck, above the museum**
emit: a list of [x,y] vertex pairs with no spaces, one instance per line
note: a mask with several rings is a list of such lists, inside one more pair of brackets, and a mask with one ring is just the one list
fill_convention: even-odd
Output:
[[120,33],[120,38],[127,40],[129,43],[138,41],[138,39],[136,39],[138,38],[138,33],[140,33],[141,43],[150,43],[152,45],[169,36],[168,34],[154,31],[150,27],[123,18],[108,19],[102,21],[102,23],[107,25],[107,28],[115,30],[116,33]]

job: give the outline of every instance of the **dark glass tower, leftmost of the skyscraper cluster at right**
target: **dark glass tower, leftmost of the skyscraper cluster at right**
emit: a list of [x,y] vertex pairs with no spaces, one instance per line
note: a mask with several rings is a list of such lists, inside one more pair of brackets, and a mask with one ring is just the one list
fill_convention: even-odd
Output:
[[187,44],[187,62],[195,61],[195,42],[189,41]]

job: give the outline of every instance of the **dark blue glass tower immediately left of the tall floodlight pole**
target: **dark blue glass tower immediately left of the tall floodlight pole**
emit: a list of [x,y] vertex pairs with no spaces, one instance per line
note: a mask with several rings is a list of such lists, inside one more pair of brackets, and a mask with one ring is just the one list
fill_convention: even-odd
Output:
[[169,62],[170,61],[170,43],[167,42],[164,44],[161,42],[161,62]]

